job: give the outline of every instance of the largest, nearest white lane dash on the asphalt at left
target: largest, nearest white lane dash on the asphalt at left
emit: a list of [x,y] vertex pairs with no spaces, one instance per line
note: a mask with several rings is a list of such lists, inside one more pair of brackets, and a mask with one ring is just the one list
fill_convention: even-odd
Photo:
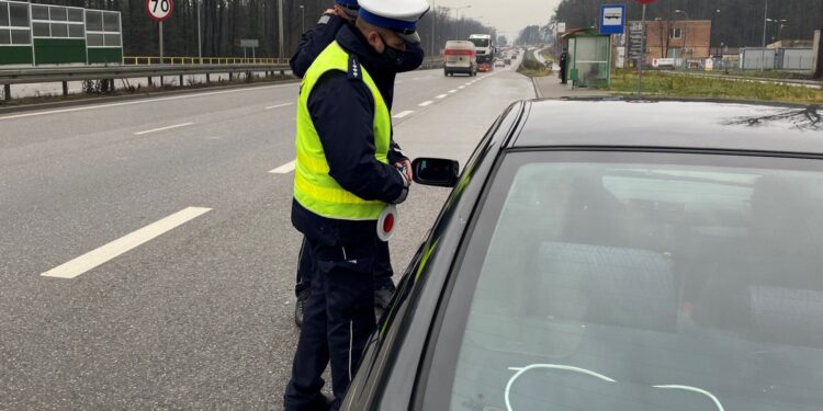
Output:
[[211,208],[202,207],[184,208],[41,275],[44,277],[75,278],[211,210]]

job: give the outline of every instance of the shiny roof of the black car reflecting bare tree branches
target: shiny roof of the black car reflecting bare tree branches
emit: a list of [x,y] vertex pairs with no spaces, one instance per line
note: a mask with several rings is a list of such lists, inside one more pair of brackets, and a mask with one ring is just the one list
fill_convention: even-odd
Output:
[[628,99],[533,100],[508,147],[661,147],[823,153],[816,106]]

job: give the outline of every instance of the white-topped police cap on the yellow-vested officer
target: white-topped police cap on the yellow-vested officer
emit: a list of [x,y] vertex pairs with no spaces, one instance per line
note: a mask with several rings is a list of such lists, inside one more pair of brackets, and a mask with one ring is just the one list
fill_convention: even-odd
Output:
[[431,5],[426,0],[359,0],[358,19],[367,23],[388,28],[409,43],[420,43],[417,22]]

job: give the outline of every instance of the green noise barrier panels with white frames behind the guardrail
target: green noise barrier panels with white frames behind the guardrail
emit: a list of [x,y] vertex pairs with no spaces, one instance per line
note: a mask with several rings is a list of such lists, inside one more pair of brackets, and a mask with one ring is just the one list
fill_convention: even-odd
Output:
[[0,67],[123,64],[115,11],[0,0]]

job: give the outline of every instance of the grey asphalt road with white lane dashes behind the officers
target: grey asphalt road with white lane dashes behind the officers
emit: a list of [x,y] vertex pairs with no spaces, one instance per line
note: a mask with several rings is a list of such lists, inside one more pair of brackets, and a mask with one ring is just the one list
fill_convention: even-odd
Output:
[[[510,68],[476,79],[399,78],[408,155],[464,163],[509,103],[533,98]],[[280,409],[297,335],[296,95],[0,117],[0,409]],[[447,195],[415,187],[401,206],[397,275]]]

